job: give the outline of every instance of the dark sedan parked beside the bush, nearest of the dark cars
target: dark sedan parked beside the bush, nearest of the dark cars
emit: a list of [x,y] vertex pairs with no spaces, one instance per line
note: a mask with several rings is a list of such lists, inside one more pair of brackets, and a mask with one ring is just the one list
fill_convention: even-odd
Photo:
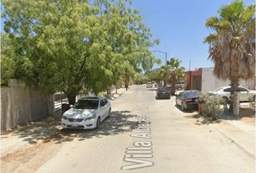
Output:
[[198,107],[199,92],[197,90],[187,90],[180,92],[176,96],[176,105],[181,106],[182,110]]

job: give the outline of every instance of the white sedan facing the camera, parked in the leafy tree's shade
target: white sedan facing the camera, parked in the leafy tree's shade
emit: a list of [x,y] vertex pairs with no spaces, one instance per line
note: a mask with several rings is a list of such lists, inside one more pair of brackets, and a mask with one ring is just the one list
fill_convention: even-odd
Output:
[[[72,105],[70,105],[72,107]],[[111,103],[103,97],[84,97],[64,112],[61,118],[63,128],[98,128],[111,115]]]

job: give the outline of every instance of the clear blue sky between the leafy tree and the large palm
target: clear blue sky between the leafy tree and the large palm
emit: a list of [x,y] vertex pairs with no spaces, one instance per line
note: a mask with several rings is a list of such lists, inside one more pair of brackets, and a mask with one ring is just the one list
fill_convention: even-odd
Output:
[[[244,2],[255,3],[254,0]],[[231,0],[134,0],[133,6],[139,9],[153,37],[161,40],[152,50],[167,52],[168,59],[181,59],[186,70],[191,59],[191,70],[194,70],[213,66],[208,60],[208,45],[202,43],[210,33],[205,22],[208,17],[217,16],[222,5],[229,3]],[[162,64],[165,63],[163,53],[154,55],[161,58]]]

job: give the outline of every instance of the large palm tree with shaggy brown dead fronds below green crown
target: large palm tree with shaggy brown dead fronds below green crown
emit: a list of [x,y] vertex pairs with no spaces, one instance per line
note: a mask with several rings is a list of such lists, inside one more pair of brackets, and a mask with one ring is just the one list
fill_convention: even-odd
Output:
[[213,73],[231,81],[233,115],[239,115],[239,81],[255,77],[255,4],[245,6],[234,1],[218,10],[205,26],[214,33],[205,38],[209,59],[215,63]]

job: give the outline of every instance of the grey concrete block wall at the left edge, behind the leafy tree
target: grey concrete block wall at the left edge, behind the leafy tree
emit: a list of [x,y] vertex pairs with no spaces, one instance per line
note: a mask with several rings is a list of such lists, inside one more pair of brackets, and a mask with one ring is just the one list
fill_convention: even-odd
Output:
[[8,85],[1,87],[1,132],[54,115],[53,95],[41,94],[16,79],[10,79]]

